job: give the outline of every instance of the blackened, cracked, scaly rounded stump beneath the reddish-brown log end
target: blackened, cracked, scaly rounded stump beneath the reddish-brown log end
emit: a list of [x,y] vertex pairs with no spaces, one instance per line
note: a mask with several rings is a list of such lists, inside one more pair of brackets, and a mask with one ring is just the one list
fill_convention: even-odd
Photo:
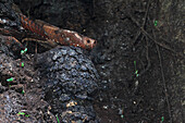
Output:
[[92,95],[98,89],[98,74],[82,49],[59,47],[38,54],[37,67],[51,111],[64,122],[98,122]]

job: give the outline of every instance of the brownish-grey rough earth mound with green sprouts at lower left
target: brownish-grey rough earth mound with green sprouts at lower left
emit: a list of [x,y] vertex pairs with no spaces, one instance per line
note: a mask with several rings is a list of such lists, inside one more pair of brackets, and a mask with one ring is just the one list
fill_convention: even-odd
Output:
[[[26,65],[21,67],[21,62]],[[57,123],[49,104],[41,99],[36,73],[30,61],[15,60],[0,52],[0,123]],[[13,81],[8,82],[9,78]]]

